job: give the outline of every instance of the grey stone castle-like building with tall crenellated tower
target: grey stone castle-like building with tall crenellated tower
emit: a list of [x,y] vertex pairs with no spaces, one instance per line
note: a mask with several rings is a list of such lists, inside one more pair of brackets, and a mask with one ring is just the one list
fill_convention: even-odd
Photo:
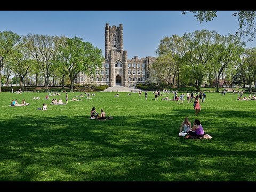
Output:
[[94,83],[99,85],[135,87],[138,83],[145,83],[150,78],[150,65],[155,57],[138,59],[135,56],[127,59],[127,51],[123,50],[123,25],[105,27],[105,62],[96,75],[87,77],[79,73],[75,82],[78,84]]

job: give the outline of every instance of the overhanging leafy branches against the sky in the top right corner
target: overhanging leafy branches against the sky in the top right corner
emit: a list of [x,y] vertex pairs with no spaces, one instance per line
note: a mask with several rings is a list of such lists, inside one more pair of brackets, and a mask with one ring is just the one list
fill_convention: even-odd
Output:
[[[186,14],[188,11],[182,11],[182,14]],[[194,17],[202,23],[203,21],[211,21],[217,17],[217,11],[189,11],[194,13]],[[248,36],[247,41],[253,41],[256,33],[256,11],[236,11],[232,14],[234,17],[238,17],[239,29],[236,31],[236,35],[245,38]]]

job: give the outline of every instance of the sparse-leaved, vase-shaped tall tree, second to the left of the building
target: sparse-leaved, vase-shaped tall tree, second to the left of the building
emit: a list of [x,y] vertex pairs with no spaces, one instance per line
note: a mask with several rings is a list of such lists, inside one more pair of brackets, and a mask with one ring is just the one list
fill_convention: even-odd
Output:
[[39,69],[42,71],[45,81],[45,89],[48,91],[49,78],[52,73],[53,63],[59,47],[63,45],[65,37],[50,35],[22,36],[22,42],[27,47],[30,56],[36,60]]

